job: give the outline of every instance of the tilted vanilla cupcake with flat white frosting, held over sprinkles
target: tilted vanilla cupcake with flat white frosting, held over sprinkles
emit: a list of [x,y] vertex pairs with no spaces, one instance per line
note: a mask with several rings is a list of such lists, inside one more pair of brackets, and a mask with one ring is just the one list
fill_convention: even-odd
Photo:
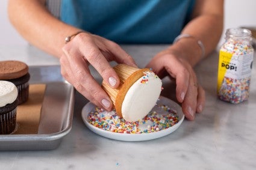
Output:
[[113,89],[103,81],[102,88],[110,96],[119,117],[138,121],[155,106],[162,89],[161,79],[148,68],[118,64],[114,70],[120,79],[119,87]]

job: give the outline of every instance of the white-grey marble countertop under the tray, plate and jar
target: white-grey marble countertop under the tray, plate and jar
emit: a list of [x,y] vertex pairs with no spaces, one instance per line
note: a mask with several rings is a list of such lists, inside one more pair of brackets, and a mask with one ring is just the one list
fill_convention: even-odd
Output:
[[[133,45],[123,49],[144,67],[165,47]],[[206,92],[204,111],[196,115],[195,121],[184,120],[170,135],[142,142],[96,135],[81,118],[81,109],[88,101],[76,93],[72,130],[59,147],[49,151],[1,151],[0,169],[255,169],[255,64],[249,100],[234,105],[216,97],[218,58],[214,52],[195,67]],[[31,46],[1,46],[0,60],[6,59],[28,65],[58,65],[58,59]],[[175,100],[173,82],[163,81],[162,95]]]

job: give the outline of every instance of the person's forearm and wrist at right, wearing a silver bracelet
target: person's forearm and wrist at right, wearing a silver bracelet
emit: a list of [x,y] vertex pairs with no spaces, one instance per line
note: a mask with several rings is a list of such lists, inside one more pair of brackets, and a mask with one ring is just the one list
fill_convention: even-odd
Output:
[[181,33],[190,34],[195,38],[181,38],[170,47],[189,61],[192,66],[202,59],[202,49],[198,45],[198,40],[204,44],[204,56],[212,52],[219,42],[223,29],[223,7],[221,5],[218,6],[219,11],[213,12],[196,9],[194,18],[184,27]]

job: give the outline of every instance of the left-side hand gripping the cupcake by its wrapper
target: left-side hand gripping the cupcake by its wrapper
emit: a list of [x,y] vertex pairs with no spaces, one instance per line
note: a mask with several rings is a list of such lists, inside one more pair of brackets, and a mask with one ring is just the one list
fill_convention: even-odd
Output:
[[90,74],[89,64],[96,68],[105,82],[113,88],[119,86],[119,77],[108,63],[116,61],[136,67],[128,53],[113,41],[87,32],[76,35],[63,46],[60,57],[61,74],[77,91],[95,105],[110,111],[113,103]]

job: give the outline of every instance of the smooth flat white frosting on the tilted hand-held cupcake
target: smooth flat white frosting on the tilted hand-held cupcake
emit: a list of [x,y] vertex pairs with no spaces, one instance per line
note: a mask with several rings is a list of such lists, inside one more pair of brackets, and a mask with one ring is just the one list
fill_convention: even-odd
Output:
[[162,82],[157,75],[146,72],[126,93],[122,103],[122,115],[126,121],[138,121],[145,117],[157,103]]

